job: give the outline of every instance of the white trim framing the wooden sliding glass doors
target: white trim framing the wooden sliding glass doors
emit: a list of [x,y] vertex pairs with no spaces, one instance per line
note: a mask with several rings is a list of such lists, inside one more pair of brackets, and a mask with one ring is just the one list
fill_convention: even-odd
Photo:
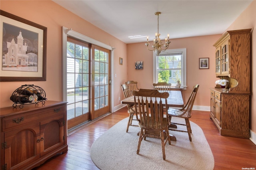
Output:
[[88,42],[94,45],[98,45],[100,47],[103,47],[105,49],[109,49],[110,50],[110,75],[111,75],[111,85],[110,85],[110,112],[114,112],[114,85],[113,85],[113,77],[114,77],[114,47],[111,47],[110,45],[107,45],[105,43],[99,42],[97,40],[94,40],[90,37],[84,36],[78,32],[75,32],[72,29],[68,29],[66,27],[62,27],[62,68],[63,68],[63,72],[62,72],[62,80],[63,80],[63,87],[62,87],[62,98],[63,101],[67,101],[67,70],[66,65],[67,65],[67,38],[68,36],[71,36],[73,38],[76,38],[78,40],[84,41],[84,42]]

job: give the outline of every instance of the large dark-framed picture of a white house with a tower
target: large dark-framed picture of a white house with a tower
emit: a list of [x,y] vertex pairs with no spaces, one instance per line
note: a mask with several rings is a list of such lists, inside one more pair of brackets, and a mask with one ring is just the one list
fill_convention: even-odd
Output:
[[0,10],[0,35],[0,81],[46,81],[46,27]]

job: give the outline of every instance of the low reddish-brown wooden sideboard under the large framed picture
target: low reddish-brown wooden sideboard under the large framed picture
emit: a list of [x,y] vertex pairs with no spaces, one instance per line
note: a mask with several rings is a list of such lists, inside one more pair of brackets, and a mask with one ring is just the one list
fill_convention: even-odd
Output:
[[1,170],[32,169],[67,145],[66,102],[1,108]]

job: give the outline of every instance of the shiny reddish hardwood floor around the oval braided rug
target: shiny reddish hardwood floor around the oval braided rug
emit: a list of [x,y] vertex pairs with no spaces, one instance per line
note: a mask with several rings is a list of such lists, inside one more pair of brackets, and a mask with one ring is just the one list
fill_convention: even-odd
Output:
[[[192,111],[190,121],[202,128],[212,149],[214,170],[256,168],[256,145],[249,139],[221,136],[209,112]],[[90,157],[93,142],[106,130],[128,117],[124,107],[68,136],[68,152],[54,156],[35,170],[98,170]],[[192,139],[193,142],[193,139]],[[136,152],[134,146],[134,152]]]

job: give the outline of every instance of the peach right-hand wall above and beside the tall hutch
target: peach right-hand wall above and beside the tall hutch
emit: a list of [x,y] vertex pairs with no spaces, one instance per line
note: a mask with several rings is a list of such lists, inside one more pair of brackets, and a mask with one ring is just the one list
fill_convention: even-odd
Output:
[[[251,107],[250,129],[256,133],[256,1],[254,0],[227,30],[252,28],[251,31]],[[255,134],[254,134],[255,135]],[[252,136],[251,136],[252,137]],[[256,140],[256,138],[254,139]]]

